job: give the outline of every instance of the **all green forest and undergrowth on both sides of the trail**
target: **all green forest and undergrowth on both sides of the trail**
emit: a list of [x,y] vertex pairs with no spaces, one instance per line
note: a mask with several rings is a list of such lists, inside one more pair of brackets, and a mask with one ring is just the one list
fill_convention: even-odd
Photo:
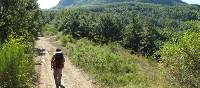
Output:
[[[39,33],[56,36],[70,61],[103,88],[200,86],[199,5],[64,1],[49,10],[35,0],[0,1],[0,88],[31,87]],[[72,3],[80,6],[63,8]]]

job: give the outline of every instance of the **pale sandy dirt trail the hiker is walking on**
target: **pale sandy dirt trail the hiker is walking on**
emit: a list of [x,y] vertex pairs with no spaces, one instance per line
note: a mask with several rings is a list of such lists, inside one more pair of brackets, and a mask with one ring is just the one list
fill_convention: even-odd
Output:
[[[39,85],[37,88],[56,88],[53,71],[50,69],[50,60],[56,46],[52,45],[46,38],[39,37],[39,40],[36,41],[36,49],[39,51],[39,55],[36,58],[36,61],[39,63],[36,66],[36,71],[39,74]],[[95,88],[88,76],[73,66],[67,56],[65,56],[65,59],[62,77],[62,85],[65,88]]]

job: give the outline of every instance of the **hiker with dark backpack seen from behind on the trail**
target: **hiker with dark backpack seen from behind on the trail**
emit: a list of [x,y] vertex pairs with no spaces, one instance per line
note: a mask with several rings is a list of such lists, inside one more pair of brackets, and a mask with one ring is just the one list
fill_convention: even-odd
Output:
[[53,75],[55,79],[56,88],[59,86],[62,88],[62,69],[64,68],[65,58],[61,49],[56,49],[56,53],[53,55],[51,60],[51,69],[53,69]]

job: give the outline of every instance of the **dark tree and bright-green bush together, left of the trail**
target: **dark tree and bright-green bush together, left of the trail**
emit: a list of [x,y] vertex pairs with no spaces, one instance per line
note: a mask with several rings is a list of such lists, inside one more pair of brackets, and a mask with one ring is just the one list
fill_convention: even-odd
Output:
[[0,0],[0,88],[31,87],[40,13],[36,0]]

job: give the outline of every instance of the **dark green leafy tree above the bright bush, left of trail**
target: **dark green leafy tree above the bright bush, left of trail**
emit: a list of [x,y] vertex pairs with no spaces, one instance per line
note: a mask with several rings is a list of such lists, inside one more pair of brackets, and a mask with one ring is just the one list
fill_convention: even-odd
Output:
[[9,35],[32,39],[41,29],[36,0],[1,0],[0,41]]

